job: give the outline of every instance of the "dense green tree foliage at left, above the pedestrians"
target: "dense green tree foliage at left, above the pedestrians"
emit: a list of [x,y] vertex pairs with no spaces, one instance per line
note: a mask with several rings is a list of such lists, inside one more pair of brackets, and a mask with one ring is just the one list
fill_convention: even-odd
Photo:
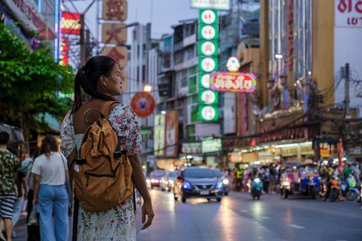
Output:
[[39,113],[63,118],[71,101],[57,93],[71,93],[73,82],[71,67],[55,62],[49,45],[30,50],[10,27],[0,24],[0,122],[24,128],[35,125]]

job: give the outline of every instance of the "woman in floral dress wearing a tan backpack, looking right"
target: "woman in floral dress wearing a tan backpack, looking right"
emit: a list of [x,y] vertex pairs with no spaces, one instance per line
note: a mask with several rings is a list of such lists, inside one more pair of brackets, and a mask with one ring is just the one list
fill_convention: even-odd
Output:
[[[73,240],[136,240],[133,184],[144,200],[142,229],[152,224],[152,202],[137,157],[139,123],[132,109],[113,97],[121,94],[122,82],[121,70],[108,56],[90,58],[75,77],[74,105],[61,125],[61,151],[75,185]],[[83,100],[81,89],[90,99]],[[114,186],[119,189],[112,191]]]

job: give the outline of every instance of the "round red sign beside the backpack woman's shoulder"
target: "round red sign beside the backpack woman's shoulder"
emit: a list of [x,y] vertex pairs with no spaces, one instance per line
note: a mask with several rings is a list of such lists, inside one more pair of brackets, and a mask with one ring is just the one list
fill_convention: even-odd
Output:
[[146,118],[154,112],[154,98],[147,92],[138,92],[131,101],[131,108],[140,118]]

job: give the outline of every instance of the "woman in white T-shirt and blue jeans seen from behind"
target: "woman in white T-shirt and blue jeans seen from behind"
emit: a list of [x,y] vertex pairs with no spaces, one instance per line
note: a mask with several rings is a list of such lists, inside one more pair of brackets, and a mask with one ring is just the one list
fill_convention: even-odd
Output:
[[69,197],[66,189],[68,169],[66,158],[58,150],[57,140],[47,134],[41,141],[41,155],[35,158],[32,165],[34,178],[32,204],[38,207],[41,240],[68,240]]

